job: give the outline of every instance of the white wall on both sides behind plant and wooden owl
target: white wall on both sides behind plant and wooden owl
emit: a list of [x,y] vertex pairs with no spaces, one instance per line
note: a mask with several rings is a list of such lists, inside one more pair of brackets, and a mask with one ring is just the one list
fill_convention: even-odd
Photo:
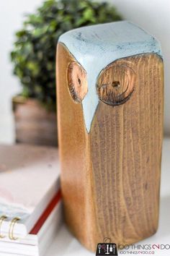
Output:
[[[125,19],[131,20],[161,41],[165,63],[165,131],[170,135],[170,1],[108,0],[117,6]],[[32,12],[42,0],[0,0],[0,143],[14,141],[11,98],[19,92],[19,81],[12,75],[9,51],[14,32],[22,26],[24,14]]]

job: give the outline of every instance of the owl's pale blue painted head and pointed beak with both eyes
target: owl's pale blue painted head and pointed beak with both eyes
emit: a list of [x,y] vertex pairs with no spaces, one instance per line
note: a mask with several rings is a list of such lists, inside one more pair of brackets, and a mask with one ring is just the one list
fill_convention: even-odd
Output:
[[135,72],[128,61],[117,60],[160,54],[157,41],[130,22],[80,27],[61,35],[59,42],[74,59],[68,67],[68,90],[73,102],[82,104],[87,132],[100,101],[118,106],[133,96]]

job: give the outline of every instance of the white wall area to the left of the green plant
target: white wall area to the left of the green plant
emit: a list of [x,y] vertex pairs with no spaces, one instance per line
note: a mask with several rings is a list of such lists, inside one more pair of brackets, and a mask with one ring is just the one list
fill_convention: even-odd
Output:
[[9,52],[14,32],[22,26],[24,14],[32,12],[42,0],[0,0],[0,143],[14,141],[11,98],[19,92],[19,81],[12,75]]

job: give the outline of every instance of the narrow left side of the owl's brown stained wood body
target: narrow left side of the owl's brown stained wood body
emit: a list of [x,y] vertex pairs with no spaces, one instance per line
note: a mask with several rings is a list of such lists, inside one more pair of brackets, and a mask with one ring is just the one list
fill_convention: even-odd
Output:
[[96,237],[96,223],[89,135],[82,105],[73,102],[67,80],[68,67],[76,60],[62,43],[58,43],[57,52],[58,142],[65,218],[73,234],[91,248]]

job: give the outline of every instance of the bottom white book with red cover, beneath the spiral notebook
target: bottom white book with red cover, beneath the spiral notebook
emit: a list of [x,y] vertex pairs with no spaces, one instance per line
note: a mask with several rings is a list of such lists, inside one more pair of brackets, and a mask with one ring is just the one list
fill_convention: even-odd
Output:
[[[49,215],[45,216],[45,221],[37,225],[38,229],[28,234],[24,239],[9,241],[0,240],[0,256],[42,256],[58,233],[63,221],[61,197],[53,204]],[[43,214],[42,214],[43,216]],[[33,234],[34,233],[34,234]]]

